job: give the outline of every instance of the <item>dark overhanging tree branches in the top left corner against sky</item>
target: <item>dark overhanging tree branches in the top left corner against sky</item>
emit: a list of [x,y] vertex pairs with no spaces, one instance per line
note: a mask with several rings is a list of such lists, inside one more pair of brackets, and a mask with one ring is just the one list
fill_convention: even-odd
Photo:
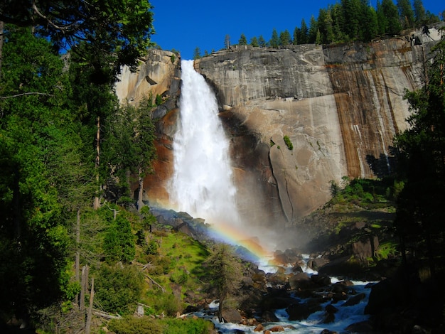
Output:
[[9,1],[1,6],[2,21],[32,27],[60,48],[68,45],[75,50],[87,41],[84,61],[107,59],[114,73],[122,65],[136,66],[137,57],[151,45],[152,15],[151,4],[140,0],[94,0],[80,4],[70,0],[35,4]]

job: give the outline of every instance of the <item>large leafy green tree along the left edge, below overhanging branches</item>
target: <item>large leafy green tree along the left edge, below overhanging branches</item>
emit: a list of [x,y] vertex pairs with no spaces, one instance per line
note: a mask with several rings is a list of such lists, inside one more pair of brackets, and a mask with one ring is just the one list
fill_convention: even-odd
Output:
[[[68,291],[72,203],[88,178],[63,61],[28,28],[6,26],[0,81],[0,311],[48,306]],[[57,169],[55,169],[57,166]],[[42,270],[42,269],[45,270]]]

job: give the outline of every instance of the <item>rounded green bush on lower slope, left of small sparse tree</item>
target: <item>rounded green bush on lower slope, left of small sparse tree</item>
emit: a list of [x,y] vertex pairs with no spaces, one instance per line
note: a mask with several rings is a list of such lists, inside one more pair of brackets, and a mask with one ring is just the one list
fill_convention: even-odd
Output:
[[121,315],[134,313],[144,284],[138,269],[102,265],[95,277],[95,299],[104,311]]

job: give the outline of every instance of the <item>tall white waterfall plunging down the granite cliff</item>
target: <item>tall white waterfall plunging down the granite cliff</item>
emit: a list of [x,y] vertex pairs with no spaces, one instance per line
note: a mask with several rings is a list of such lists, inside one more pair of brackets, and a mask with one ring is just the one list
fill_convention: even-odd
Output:
[[170,200],[176,210],[206,222],[237,223],[229,141],[218,103],[193,60],[182,60],[180,122],[173,139],[174,172]]

